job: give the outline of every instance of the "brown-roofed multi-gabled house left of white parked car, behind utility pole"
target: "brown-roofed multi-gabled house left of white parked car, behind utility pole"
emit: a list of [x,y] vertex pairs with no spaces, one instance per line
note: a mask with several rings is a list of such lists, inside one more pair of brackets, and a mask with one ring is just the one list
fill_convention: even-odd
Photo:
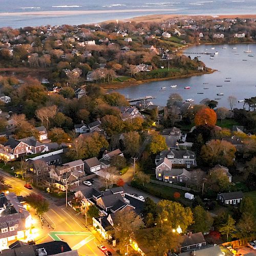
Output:
[[62,164],[61,166],[51,166],[49,184],[65,191],[68,184],[72,190],[79,186],[80,178],[84,177],[84,162],[79,159],[73,162]]

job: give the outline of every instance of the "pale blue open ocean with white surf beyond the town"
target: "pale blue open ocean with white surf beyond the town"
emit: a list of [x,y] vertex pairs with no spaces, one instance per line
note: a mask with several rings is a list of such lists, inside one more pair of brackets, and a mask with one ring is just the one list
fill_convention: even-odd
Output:
[[[255,0],[0,0],[0,27],[25,27],[39,25],[78,25],[97,23],[108,19],[121,19],[147,14],[253,14]],[[72,11],[136,10],[127,13],[74,14]],[[143,10],[149,10],[144,12]],[[158,10],[158,11],[156,11]],[[159,11],[160,10],[160,11]],[[166,11],[167,10],[167,11]],[[61,15],[12,15],[1,13],[68,11]],[[32,14],[32,13],[31,13]]]

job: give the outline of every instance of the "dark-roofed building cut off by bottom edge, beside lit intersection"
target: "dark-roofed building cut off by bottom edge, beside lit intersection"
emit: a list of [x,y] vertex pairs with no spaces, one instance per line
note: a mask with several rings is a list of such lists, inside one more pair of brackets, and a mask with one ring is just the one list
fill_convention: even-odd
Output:
[[69,255],[78,256],[77,250],[72,250],[68,243],[63,241],[51,241],[42,244],[29,245],[28,243],[17,241],[9,246],[9,249],[1,252],[3,256],[43,256],[43,255]]

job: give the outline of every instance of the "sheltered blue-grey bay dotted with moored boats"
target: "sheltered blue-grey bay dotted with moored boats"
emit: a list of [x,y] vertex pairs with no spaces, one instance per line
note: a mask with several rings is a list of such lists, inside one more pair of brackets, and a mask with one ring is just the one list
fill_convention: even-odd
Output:
[[[215,49],[211,49],[212,47],[215,47]],[[223,47],[227,49],[223,49]],[[237,49],[233,49],[233,47]],[[218,71],[202,76],[144,83],[139,86],[127,87],[116,91],[125,95],[125,97],[128,95],[129,98],[143,97],[146,95],[156,96],[156,99],[152,99],[153,103],[162,106],[166,105],[168,96],[171,93],[180,94],[183,100],[189,98],[195,99],[194,103],[199,103],[204,98],[221,98],[217,100],[219,102],[218,106],[229,108],[227,98],[230,95],[236,96],[238,100],[256,96],[256,45],[250,44],[249,49],[252,51],[251,53],[244,52],[247,50],[246,44],[190,47],[185,51],[193,53],[202,53],[205,51],[215,53],[218,51],[219,54],[215,55],[214,59],[210,59],[209,55],[204,54],[186,54],[191,58],[199,55],[202,56],[200,60],[207,67]],[[249,57],[248,54],[255,54],[255,56]],[[230,82],[225,82],[225,80],[230,80]],[[177,84],[177,88],[170,88],[173,84]],[[187,86],[190,86],[190,89],[184,89]],[[161,91],[161,87],[166,87],[166,90]],[[217,93],[224,93],[224,95],[217,96]],[[237,103],[235,107],[242,108],[242,106],[243,103]]]

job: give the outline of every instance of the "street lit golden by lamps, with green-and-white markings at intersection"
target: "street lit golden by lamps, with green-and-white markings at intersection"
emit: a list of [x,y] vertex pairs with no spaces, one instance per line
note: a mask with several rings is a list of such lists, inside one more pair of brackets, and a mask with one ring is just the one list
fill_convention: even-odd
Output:
[[[32,190],[25,188],[25,181],[14,178],[1,169],[0,174],[7,183],[20,191],[20,195],[39,194],[49,201],[50,209],[43,215],[45,219],[44,226],[40,228],[40,224],[36,224],[37,227],[39,226],[37,228],[37,238],[42,238],[38,241],[39,243],[61,239],[67,242],[72,249],[77,249],[79,255],[103,255],[97,248],[97,245],[100,244],[98,239],[86,227],[82,218],[76,216],[71,208],[65,207],[65,201],[62,200],[63,205],[59,205],[59,199],[52,199],[46,193],[42,193],[35,188]],[[49,228],[47,223],[49,223]]]

